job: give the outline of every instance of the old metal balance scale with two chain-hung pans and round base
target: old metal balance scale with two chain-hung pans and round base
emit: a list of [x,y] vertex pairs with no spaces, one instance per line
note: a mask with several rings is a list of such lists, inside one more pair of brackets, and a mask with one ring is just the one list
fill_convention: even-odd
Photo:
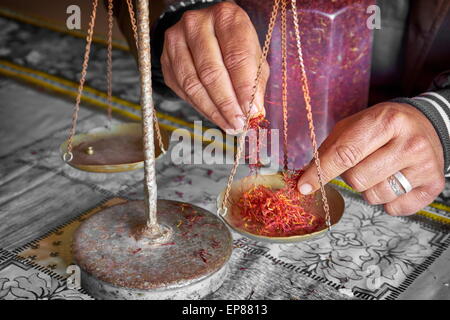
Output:
[[[277,187],[277,175],[248,177],[250,180],[233,183],[233,170],[231,181],[219,195],[217,215],[189,203],[157,199],[155,161],[165,152],[169,139],[167,132],[159,129],[152,99],[148,0],[137,0],[137,22],[131,0],[126,1],[138,48],[142,123],[75,135],[98,5],[98,0],[93,0],[73,126],[69,139],[61,145],[61,153],[64,161],[78,170],[121,172],[143,167],[145,198],[103,209],[84,221],[73,238],[73,259],[82,270],[81,286],[97,299],[200,299],[217,290],[226,279],[233,248],[227,225],[255,240],[285,243],[310,239],[327,229],[284,238],[262,237],[242,229],[239,212],[229,206],[228,198],[236,198],[236,192],[250,184]],[[278,10],[280,1],[286,5],[287,0],[275,0],[274,10]],[[112,0],[108,12],[110,65]],[[321,209],[320,193],[315,203],[317,214],[331,215],[329,230],[341,218],[344,202],[329,186],[326,193],[328,212]]]

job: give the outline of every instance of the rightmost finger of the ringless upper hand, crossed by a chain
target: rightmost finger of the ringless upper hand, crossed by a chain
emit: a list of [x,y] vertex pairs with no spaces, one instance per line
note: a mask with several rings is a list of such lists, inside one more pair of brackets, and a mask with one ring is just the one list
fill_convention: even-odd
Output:
[[[220,8],[221,7],[221,8]],[[258,35],[248,15],[237,6],[223,2],[213,12],[215,33],[239,105],[244,114],[265,113],[264,92],[269,77],[267,63],[262,64],[253,107],[250,101],[261,57]]]

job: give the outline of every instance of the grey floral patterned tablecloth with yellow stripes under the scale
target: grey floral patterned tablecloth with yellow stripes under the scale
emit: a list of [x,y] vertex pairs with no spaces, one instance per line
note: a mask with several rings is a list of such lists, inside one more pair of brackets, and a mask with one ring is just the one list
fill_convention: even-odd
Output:
[[[38,59],[41,70],[53,68],[52,74],[67,72],[66,78],[75,78],[77,71],[69,69],[79,60],[78,55],[72,54],[71,61],[59,51],[64,51],[62,47],[67,51],[72,42],[81,40],[48,30],[39,30],[45,37],[30,38],[29,33],[36,31],[32,28],[0,18],[0,56],[28,67]],[[22,39],[29,39],[34,47],[20,48]],[[53,44],[52,50],[56,39],[58,45]],[[53,55],[58,63],[48,64],[45,57]],[[118,55],[125,62],[117,64],[117,94],[136,101],[135,89],[124,89],[137,87],[136,74],[129,67],[121,68],[131,58]],[[93,57],[94,68],[100,68],[95,50]],[[73,65],[80,65],[78,62]],[[129,74],[129,82],[120,77],[121,72]],[[93,87],[103,85],[96,73],[89,81]],[[66,267],[72,262],[71,235],[97,210],[127,199],[142,199],[143,172],[90,174],[65,165],[58,146],[67,137],[72,101],[4,76],[0,76],[0,101],[0,299],[91,299],[82,289],[66,285]],[[185,120],[197,117],[176,102],[162,98],[158,102],[160,110],[172,115]],[[104,121],[103,113],[82,108],[79,131]],[[158,196],[215,212],[216,197],[229,170],[227,165],[174,166],[166,155],[157,162]],[[239,175],[244,174],[242,168]],[[431,213],[428,216],[440,216],[440,221],[419,215],[390,217],[381,207],[365,204],[342,183],[337,182],[336,187],[345,198],[345,213],[341,222],[320,238],[279,245],[233,234],[231,271],[209,298],[450,298],[449,185],[437,202],[426,208]]]

